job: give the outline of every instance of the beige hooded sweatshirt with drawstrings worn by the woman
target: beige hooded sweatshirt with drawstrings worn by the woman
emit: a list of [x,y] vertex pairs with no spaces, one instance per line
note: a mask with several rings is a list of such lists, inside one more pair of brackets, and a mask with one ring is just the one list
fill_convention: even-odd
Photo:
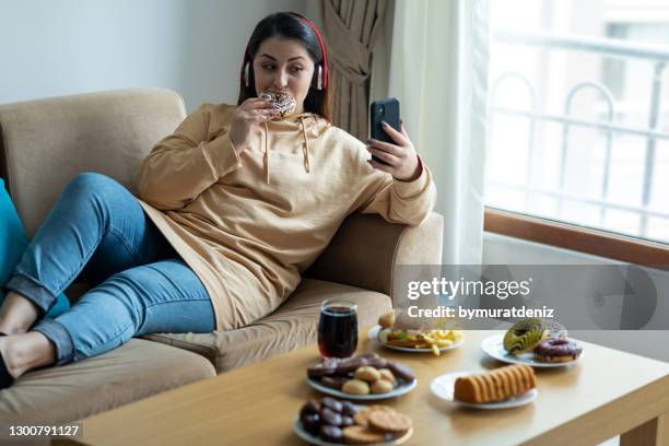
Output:
[[142,163],[141,204],[211,297],[216,328],[274,310],[351,212],[416,225],[436,192],[430,171],[399,181],[365,145],[314,114],[260,128],[237,156],[234,106],[204,104]]

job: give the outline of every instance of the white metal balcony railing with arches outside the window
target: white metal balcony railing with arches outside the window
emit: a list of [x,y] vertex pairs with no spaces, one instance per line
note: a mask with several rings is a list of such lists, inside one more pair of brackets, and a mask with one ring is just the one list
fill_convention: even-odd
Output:
[[[603,225],[606,211],[608,209],[630,211],[641,216],[639,233],[642,237],[647,236],[648,218],[658,216],[669,219],[669,212],[654,210],[649,208],[650,197],[653,192],[653,179],[655,176],[656,150],[658,140],[669,140],[669,133],[660,130],[660,113],[662,109],[662,87],[665,84],[665,68],[669,62],[669,48],[658,47],[653,45],[638,45],[609,38],[592,38],[592,37],[574,37],[561,36],[543,33],[518,33],[510,31],[495,31],[493,40],[503,44],[517,45],[521,47],[540,47],[547,49],[585,51],[595,54],[601,57],[617,59],[638,59],[653,63],[654,74],[652,79],[650,90],[650,106],[648,108],[646,128],[636,128],[615,122],[617,109],[615,101],[611,91],[603,84],[597,81],[584,81],[574,85],[566,94],[563,106],[563,114],[547,114],[538,110],[537,107],[537,90],[532,82],[523,73],[507,71],[492,83],[491,87],[491,115],[494,118],[495,114],[526,117],[529,120],[528,134],[528,160],[526,181],[524,186],[513,185],[508,183],[491,183],[491,186],[503,187],[509,190],[523,191],[527,196],[538,195],[555,198],[558,200],[558,212],[562,210],[563,201],[579,202],[594,204],[599,207],[600,223]],[[529,109],[501,107],[496,104],[497,91],[504,82],[515,79],[520,81],[528,91],[530,97]],[[606,120],[586,120],[572,116],[572,103],[574,98],[584,90],[595,90],[603,98],[606,104]],[[494,121],[494,119],[491,119]],[[558,190],[549,190],[535,188],[530,183],[531,168],[533,166],[535,156],[535,132],[537,124],[540,121],[558,122],[562,125],[561,137],[561,153],[560,153],[560,171],[559,171],[559,188]],[[566,184],[566,160],[568,153],[570,130],[573,127],[592,128],[602,130],[606,134],[605,148],[605,165],[602,181],[600,185],[600,193],[598,199],[579,197],[567,193],[565,191]],[[489,134],[493,133],[491,129]],[[612,140],[615,136],[629,134],[637,136],[646,139],[645,162],[643,172],[643,187],[641,206],[629,206],[611,201],[609,198],[609,186],[611,176],[611,148]]]

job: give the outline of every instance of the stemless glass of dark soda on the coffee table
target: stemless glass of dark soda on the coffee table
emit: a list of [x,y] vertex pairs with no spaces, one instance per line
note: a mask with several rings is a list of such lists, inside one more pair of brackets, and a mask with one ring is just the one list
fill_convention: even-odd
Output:
[[320,306],[318,348],[322,357],[350,357],[357,348],[357,305],[327,300]]

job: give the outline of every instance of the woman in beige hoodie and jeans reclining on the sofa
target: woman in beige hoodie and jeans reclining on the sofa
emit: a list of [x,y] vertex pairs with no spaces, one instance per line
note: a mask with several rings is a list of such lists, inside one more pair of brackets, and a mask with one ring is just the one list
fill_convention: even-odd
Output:
[[[396,144],[365,146],[328,121],[328,92],[318,31],[269,15],[248,43],[238,105],[204,104],[160,141],[141,201],[103,175],[74,178],[5,284],[0,387],[133,336],[250,324],[293,292],[351,212],[423,221],[434,185],[407,133],[387,126]],[[82,269],[96,286],[37,321]]]

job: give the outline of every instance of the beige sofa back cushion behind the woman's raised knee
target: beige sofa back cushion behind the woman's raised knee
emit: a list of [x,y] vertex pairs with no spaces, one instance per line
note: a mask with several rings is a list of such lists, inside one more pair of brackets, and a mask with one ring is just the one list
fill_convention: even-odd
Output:
[[151,148],[186,117],[165,89],[127,89],[0,105],[0,177],[32,237],[58,195],[81,172],[134,191]]

